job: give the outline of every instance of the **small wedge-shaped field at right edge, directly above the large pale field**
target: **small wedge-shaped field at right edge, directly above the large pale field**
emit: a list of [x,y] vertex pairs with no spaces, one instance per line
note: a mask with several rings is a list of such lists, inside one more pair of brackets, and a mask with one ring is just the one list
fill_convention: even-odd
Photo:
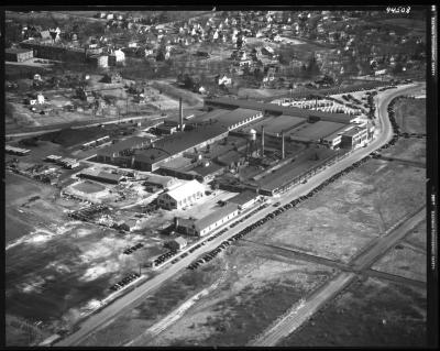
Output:
[[393,147],[381,151],[386,157],[397,157],[426,163],[426,139],[400,138]]

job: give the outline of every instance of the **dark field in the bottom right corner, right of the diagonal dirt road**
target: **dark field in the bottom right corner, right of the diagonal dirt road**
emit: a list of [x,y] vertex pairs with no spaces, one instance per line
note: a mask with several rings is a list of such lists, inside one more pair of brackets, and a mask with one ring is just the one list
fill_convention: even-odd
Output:
[[369,278],[356,281],[280,347],[422,347],[426,292]]

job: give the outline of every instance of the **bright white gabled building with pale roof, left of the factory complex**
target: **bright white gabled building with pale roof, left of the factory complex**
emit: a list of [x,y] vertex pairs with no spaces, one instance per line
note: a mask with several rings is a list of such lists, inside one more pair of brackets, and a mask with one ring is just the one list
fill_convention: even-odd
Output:
[[157,197],[160,207],[172,210],[195,204],[205,194],[205,187],[197,180],[184,183]]

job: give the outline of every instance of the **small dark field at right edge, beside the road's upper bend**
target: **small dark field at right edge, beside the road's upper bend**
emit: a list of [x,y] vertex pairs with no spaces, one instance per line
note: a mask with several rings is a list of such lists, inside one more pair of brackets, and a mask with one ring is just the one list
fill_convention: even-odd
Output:
[[396,122],[403,132],[426,133],[426,99],[400,99],[396,102]]

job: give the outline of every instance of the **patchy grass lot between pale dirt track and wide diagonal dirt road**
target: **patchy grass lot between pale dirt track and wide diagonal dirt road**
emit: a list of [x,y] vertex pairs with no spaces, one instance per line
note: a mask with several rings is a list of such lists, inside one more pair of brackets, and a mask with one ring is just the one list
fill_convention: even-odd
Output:
[[245,345],[333,274],[332,268],[249,242],[230,248],[207,265],[217,261],[227,267],[217,290],[144,345]]

